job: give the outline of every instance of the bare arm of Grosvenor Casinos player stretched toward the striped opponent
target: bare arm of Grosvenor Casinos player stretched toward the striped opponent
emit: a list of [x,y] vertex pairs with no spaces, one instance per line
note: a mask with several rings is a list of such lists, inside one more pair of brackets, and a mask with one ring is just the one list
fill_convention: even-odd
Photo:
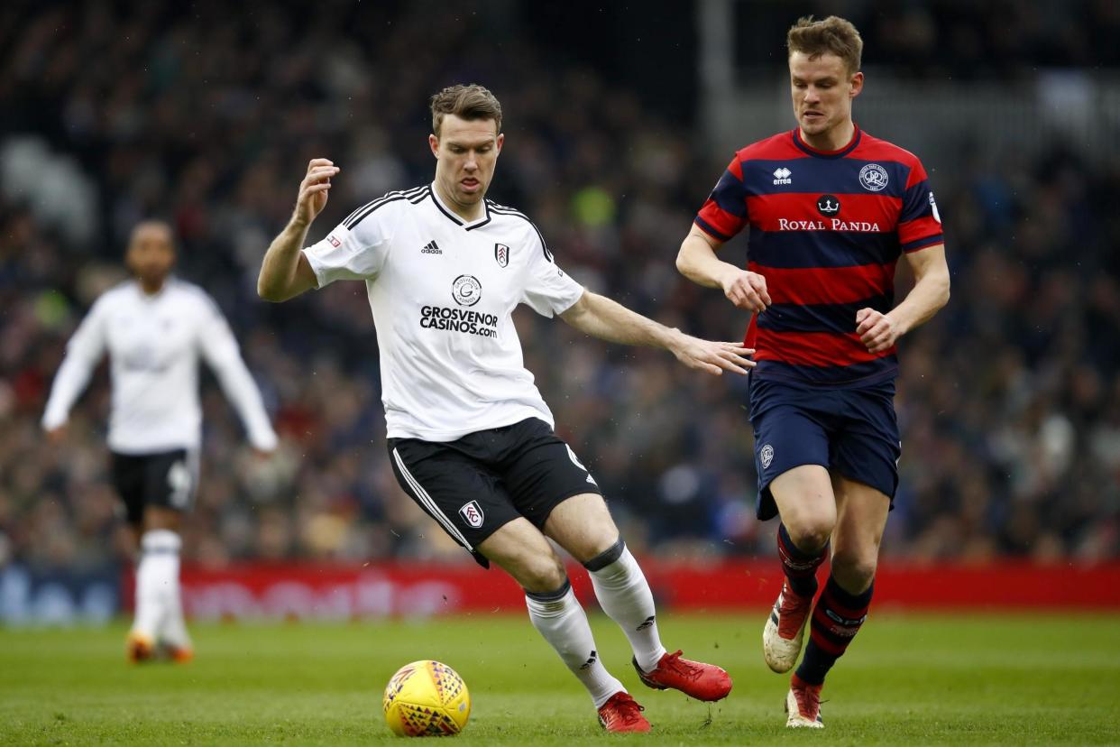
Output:
[[590,291],[584,291],[560,318],[580,332],[610,343],[666,349],[688,367],[717,376],[725,371],[745,374],[755,365],[748,357],[754,351],[739,343],[712,343],[685,335]]

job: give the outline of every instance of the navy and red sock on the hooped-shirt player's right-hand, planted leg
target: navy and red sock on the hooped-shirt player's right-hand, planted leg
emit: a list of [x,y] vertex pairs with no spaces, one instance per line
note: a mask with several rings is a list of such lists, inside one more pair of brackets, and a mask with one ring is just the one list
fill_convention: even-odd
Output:
[[824,675],[843,656],[848,644],[867,619],[874,590],[875,583],[871,583],[862,594],[848,594],[840,588],[836,578],[829,577],[809,622],[805,657],[797,667],[801,680],[809,684],[824,682]]

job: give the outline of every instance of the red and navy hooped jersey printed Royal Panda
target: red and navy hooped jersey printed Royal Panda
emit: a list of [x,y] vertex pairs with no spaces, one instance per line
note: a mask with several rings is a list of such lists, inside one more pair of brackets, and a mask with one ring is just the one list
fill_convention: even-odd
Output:
[[916,156],[859,128],[838,151],[783,132],[735,155],[696,224],[721,242],[750,228],[747,269],[773,301],[747,328],[756,375],[860,386],[897,374],[895,347],[868,352],[856,312],[889,311],[902,253],[944,241]]

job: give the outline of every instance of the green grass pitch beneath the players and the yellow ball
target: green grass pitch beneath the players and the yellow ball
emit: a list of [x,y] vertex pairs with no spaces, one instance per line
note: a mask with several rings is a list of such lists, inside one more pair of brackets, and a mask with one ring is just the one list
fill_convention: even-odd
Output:
[[353,625],[206,625],[187,665],[130,666],[124,627],[0,629],[0,745],[348,745],[395,739],[381,690],[416,659],[458,670],[474,699],[455,744],[1118,744],[1120,617],[872,617],[824,690],[823,732],[786,731],[786,679],[762,661],[763,615],[665,615],[665,642],[717,662],[709,707],[637,682],[622,633],[604,661],[646,707],[648,736],[607,737],[529,622],[482,615]]

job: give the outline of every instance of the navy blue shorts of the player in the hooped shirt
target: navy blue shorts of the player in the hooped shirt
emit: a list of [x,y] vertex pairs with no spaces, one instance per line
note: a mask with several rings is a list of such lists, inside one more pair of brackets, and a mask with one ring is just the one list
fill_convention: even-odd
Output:
[[769,491],[774,478],[802,465],[870,485],[894,507],[902,456],[894,381],[823,389],[750,379],[758,519],[777,515]]

